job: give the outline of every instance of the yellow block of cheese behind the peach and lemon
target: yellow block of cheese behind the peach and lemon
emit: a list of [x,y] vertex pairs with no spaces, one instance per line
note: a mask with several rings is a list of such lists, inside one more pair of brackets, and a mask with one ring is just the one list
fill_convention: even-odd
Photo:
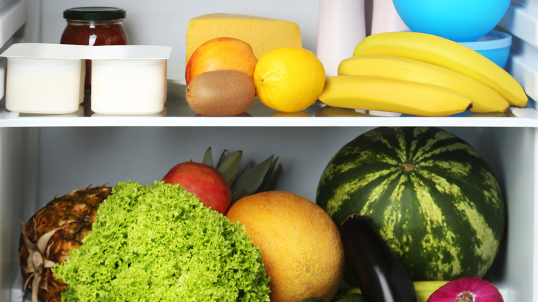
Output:
[[302,47],[301,32],[296,23],[243,14],[203,14],[188,23],[186,62],[198,46],[217,37],[246,41],[258,59],[275,48]]

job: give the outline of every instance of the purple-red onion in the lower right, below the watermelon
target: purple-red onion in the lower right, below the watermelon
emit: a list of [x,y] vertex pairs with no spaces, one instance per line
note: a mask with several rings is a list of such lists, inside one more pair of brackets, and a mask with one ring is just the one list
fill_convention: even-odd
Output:
[[479,278],[450,281],[431,294],[427,302],[504,302],[492,283]]

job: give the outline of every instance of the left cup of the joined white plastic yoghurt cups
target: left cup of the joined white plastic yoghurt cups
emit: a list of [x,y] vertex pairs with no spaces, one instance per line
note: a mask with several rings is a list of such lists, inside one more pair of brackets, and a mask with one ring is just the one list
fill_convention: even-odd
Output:
[[36,114],[77,111],[83,100],[83,59],[79,48],[19,43],[3,52],[6,70],[6,109]]

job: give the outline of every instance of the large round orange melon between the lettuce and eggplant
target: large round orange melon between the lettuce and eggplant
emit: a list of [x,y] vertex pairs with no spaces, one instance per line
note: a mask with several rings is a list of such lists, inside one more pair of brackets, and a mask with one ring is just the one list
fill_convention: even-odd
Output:
[[244,225],[259,246],[271,302],[335,296],[343,278],[343,248],[337,226],[319,205],[290,192],[268,191],[239,199],[226,216]]

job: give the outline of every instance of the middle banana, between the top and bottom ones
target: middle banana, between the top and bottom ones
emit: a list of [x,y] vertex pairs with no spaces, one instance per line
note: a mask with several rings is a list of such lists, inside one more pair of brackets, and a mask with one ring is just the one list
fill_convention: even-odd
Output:
[[490,86],[460,72],[404,57],[365,54],[341,61],[338,74],[387,77],[448,88],[472,101],[472,112],[504,112],[510,104]]

